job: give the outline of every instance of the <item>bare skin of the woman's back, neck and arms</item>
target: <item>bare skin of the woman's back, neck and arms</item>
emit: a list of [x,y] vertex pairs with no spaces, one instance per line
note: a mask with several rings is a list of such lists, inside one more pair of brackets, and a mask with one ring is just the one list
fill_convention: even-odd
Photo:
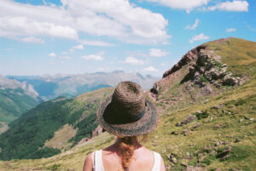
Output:
[[[134,153],[130,162],[129,171],[151,171],[154,165],[154,153],[141,145],[137,138],[134,137]],[[84,161],[84,171],[93,171],[92,169],[92,153],[90,153]],[[102,150],[102,162],[105,171],[121,171],[122,163],[119,154],[119,138]],[[165,171],[165,164],[163,158],[160,159],[160,171]]]

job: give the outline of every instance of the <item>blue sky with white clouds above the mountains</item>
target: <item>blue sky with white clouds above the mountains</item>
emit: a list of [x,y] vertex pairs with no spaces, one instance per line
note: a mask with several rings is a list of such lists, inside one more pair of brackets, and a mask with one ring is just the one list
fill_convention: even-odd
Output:
[[255,0],[1,0],[0,75],[161,77],[201,43],[256,42],[255,16]]

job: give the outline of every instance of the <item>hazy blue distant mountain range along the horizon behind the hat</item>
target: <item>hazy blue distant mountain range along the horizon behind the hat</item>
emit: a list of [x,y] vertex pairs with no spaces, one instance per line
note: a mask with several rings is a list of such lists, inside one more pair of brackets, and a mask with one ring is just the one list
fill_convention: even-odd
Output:
[[94,91],[98,88],[116,86],[122,81],[133,81],[148,89],[159,77],[146,76],[124,71],[84,73],[77,75],[57,74],[55,76],[8,76],[20,82],[32,84],[39,96],[44,100],[55,99],[58,96],[72,96]]

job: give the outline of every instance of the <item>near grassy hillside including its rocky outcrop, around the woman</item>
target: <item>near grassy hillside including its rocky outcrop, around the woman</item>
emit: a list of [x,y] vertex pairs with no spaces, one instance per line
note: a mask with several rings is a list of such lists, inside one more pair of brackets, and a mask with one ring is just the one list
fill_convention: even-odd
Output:
[[[167,170],[256,170],[256,43],[230,37],[190,50],[148,99],[160,121],[143,145]],[[82,170],[90,151],[113,141],[103,133],[55,157],[0,162],[0,170]]]

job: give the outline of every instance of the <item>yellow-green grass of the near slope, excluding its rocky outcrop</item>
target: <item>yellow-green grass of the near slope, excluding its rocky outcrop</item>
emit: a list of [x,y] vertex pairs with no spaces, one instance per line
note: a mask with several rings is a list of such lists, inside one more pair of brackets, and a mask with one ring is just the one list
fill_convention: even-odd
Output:
[[[247,74],[249,80],[194,103],[173,105],[168,100],[177,97],[180,90],[180,85],[174,84],[168,94],[162,94],[165,102],[154,101],[160,121],[143,145],[160,152],[167,170],[183,170],[187,165],[212,171],[256,170],[256,43],[229,38],[207,46],[222,56],[222,62],[230,66],[228,70],[238,76]],[[189,115],[195,115],[195,119],[177,127]],[[0,170],[82,170],[84,157],[90,151],[113,141],[112,135],[104,133],[55,157],[0,162]]]

